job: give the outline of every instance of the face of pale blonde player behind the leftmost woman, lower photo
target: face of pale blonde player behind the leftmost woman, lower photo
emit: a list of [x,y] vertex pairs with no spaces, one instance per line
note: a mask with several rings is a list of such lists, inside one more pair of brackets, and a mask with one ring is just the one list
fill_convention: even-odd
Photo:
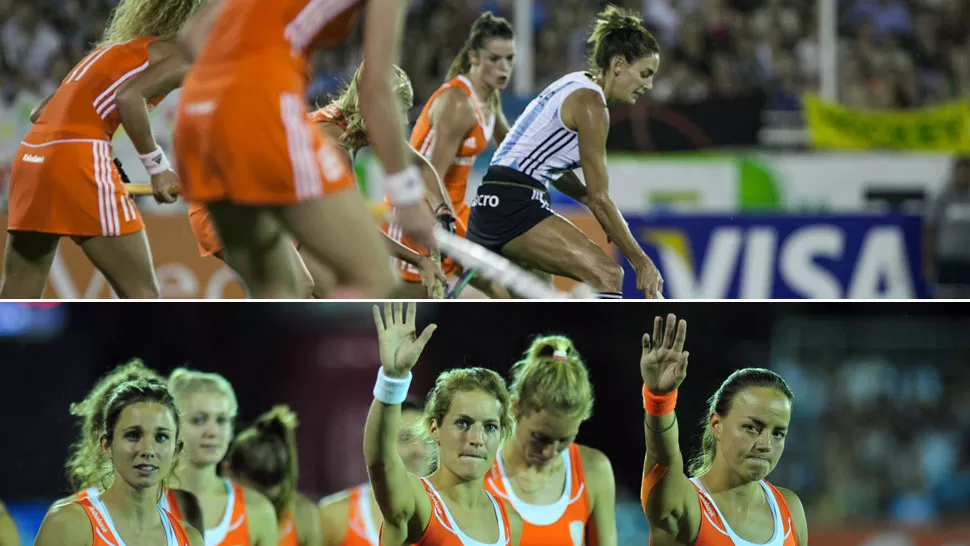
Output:
[[218,464],[229,449],[232,416],[229,398],[218,391],[186,394],[179,401],[185,416],[185,451],[196,466]]

